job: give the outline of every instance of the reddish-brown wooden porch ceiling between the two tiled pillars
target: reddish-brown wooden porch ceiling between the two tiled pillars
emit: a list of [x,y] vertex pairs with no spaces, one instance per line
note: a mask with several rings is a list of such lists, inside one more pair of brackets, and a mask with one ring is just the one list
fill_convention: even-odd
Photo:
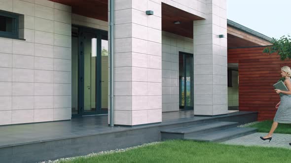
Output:
[[[162,30],[193,38],[193,21],[203,18],[162,3]],[[181,24],[174,24],[180,21]]]

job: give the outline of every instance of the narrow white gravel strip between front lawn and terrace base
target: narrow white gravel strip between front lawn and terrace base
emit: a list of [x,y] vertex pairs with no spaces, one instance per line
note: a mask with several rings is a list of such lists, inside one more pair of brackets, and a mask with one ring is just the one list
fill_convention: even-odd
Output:
[[161,142],[157,142],[156,141],[156,142],[145,143],[145,144],[142,144],[142,145],[128,147],[128,148],[121,148],[121,149],[115,149],[115,150],[110,150],[110,151],[102,151],[102,152],[98,152],[98,153],[90,153],[90,154],[85,155],[85,156],[62,158],[62,159],[57,159],[57,160],[53,160],[53,161],[52,160],[48,160],[48,161],[38,162],[38,163],[59,163],[61,161],[69,161],[69,160],[74,160],[74,159],[78,159],[78,158],[90,158],[90,157],[95,157],[95,156],[100,156],[100,155],[105,155],[105,154],[125,152],[125,151],[130,150],[130,149],[146,147],[146,146],[149,146],[149,145],[155,145],[155,144],[159,144],[159,143],[161,143]]

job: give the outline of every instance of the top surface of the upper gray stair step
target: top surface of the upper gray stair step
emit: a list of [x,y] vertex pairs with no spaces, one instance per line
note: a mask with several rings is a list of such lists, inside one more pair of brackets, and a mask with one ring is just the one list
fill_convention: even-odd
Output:
[[199,131],[204,131],[204,130],[215,129],[219,127],[224,127],[224,126],[236,126],[237,124],[238,124],[237,122],[216,121],[216,122],[200,123],[200,124],[191,125],[191,126],[161,130],[161,133],[188,134],[188,133],[194,133],[194,132],[199,132]]

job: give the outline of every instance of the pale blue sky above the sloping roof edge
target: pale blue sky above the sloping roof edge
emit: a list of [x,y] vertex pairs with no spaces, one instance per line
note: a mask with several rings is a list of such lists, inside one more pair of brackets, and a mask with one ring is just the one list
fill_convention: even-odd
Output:
[[279,39],[291,34],[291,0],[227,0],[227,19]]

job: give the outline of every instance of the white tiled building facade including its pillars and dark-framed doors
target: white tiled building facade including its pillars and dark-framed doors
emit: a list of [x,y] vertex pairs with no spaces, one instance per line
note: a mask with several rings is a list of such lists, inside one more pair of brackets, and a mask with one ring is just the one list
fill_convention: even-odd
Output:
[[[0,125],[108,113],[109,24],[76,4],[0,0]],[[227,113],[226,0],[114,6],[115,125],[159,123],[162,112],[182,109]],[[188,17],[173,21],[175,13]],[[18,18],[17,38],[3,35],[10,15]],[[191,27],[179,28],[185,21]]]

